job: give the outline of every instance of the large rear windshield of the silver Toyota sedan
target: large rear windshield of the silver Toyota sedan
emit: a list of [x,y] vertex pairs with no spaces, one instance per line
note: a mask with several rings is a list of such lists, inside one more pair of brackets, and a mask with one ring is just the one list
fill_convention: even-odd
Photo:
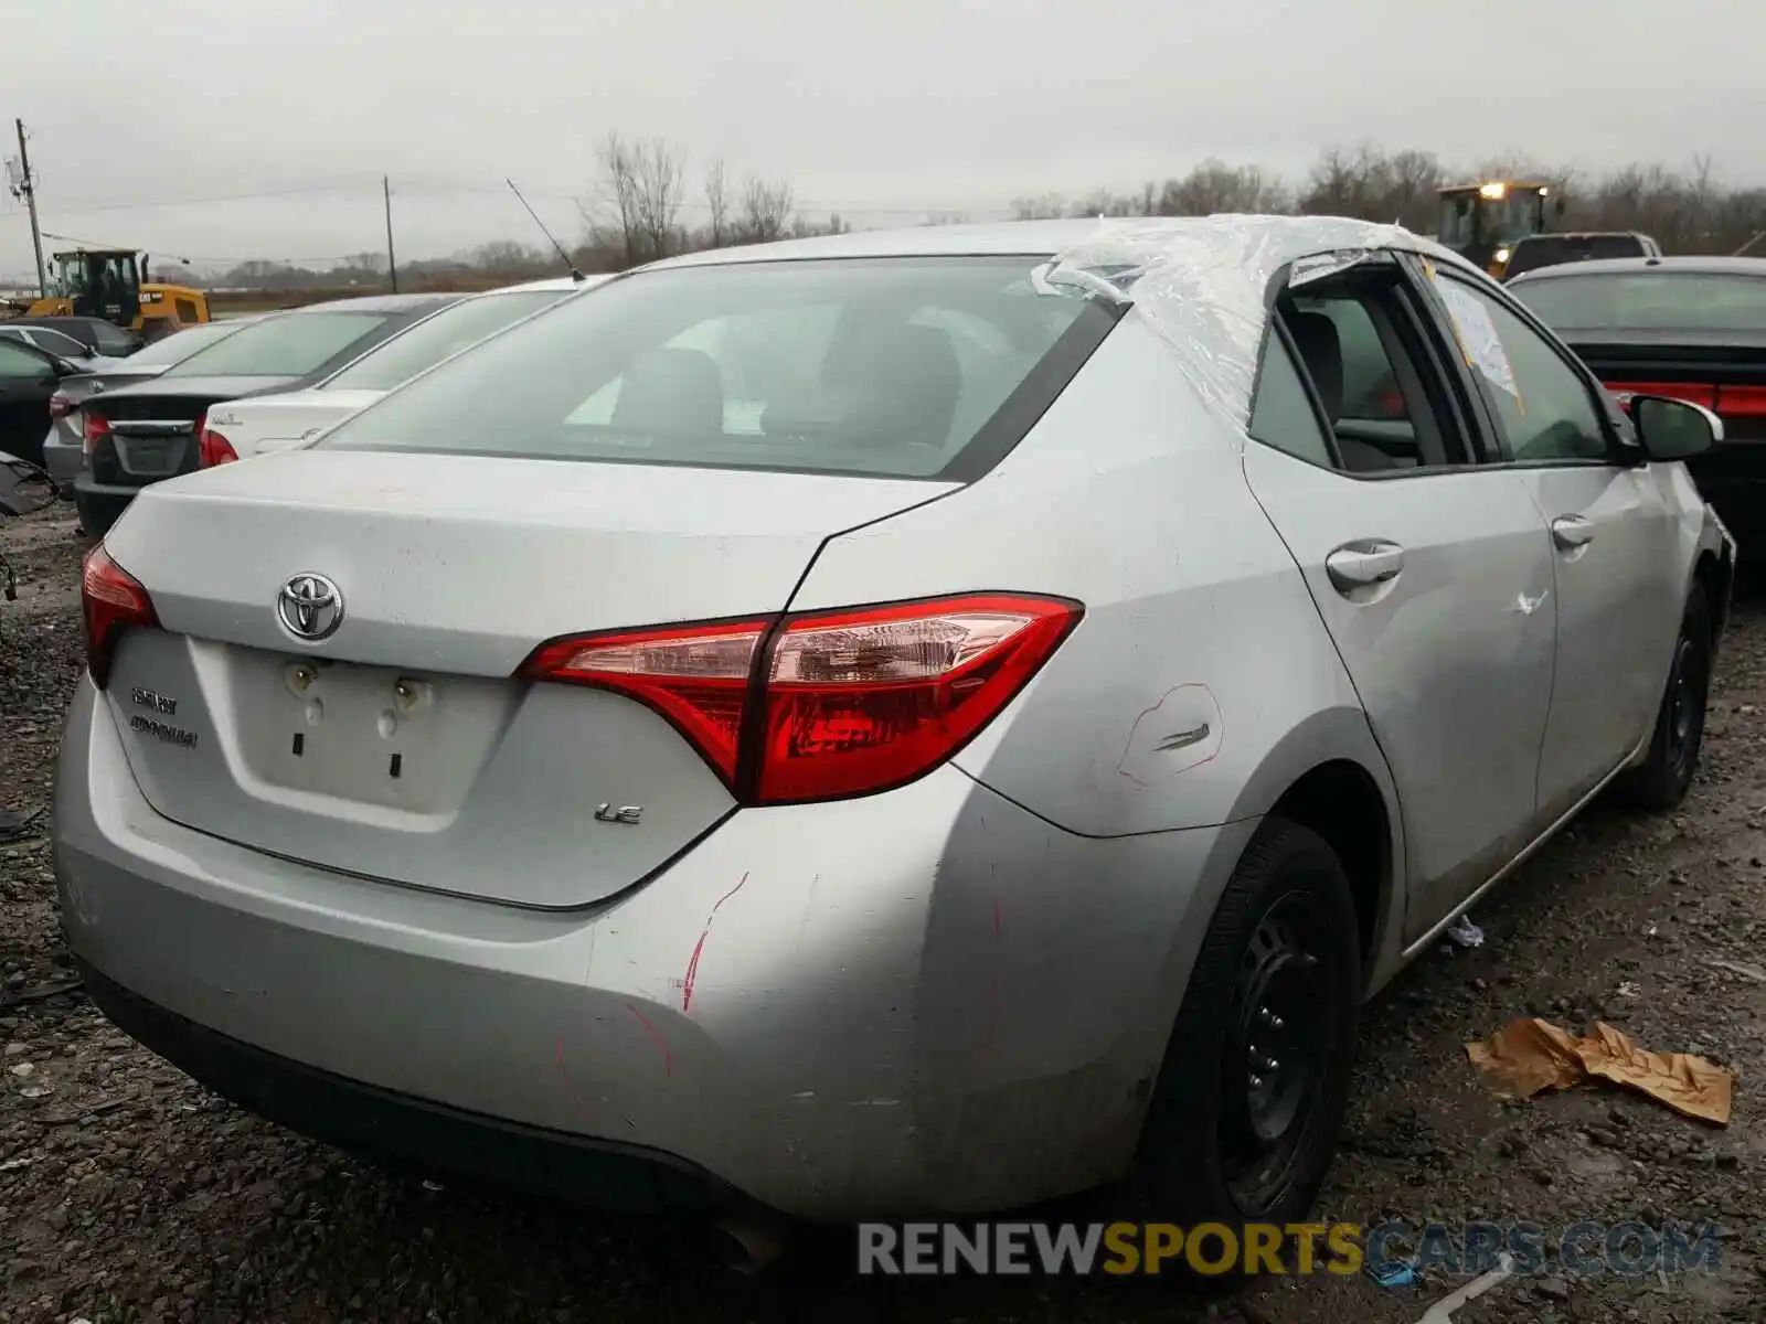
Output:
[[1081,291],[1038,293],[1038,265],[885,258],[641,272],[443,364],[318,445],[934,477],[962,468],[1019,387],[1033,394],[1074,371],[1030,381],[1063,334],[1084,342],[1113,325]]

